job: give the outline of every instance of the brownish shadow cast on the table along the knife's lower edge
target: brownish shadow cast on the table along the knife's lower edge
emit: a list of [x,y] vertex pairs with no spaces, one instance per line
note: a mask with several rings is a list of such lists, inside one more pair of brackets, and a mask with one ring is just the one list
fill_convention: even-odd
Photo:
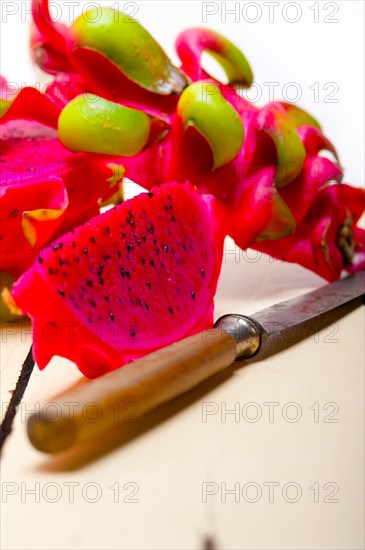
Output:
[[[57,455],[51,455],[47,461],[38,466],[37,469],[47,472],[65,472],[77,470],[87,466],[89,463],[102,458],[123,445],[127,445],[137,437],[142,436],[151,429],[156,428],[163,422],[166,422],[173,416],[179,414],[196,401],[202,399],[210,391],[230,379],[237,369],[250,366],[257,361],[263,361],[267,357],[270,357],[275,353],[279,353],[306,338],[318,338],[318,341],[320,342],[321,337],[319,332],[321,330],[333,326],[333,331],[335,333],[337,330],[337,322],[342,317],[348,315],[354,309],[359,307],[361,302],[362,299],[359,298],[349,304],[337,308],[332,312],[322,315],[314,321],[303,323],[299,328],[296,327],[295,329],[287,329],[278,335],[272,336],[265,349],[256,357],[246,361],[236,361],[223,372],[215,375],[209,380],[206,380],[188,393],[175,398],[173,401],[160,406],[154,411],[149,412],[148,415],[138,419],[137,421],[124,422],[123,424],[113,426],[113,428],[109,431],[103,433],[102,435],[99,434],[97,437],[90,439],[71,450]],[[327,337],[330,337],[328,331],[326,335]],[[74,387],[70,389],[74,389]]]

